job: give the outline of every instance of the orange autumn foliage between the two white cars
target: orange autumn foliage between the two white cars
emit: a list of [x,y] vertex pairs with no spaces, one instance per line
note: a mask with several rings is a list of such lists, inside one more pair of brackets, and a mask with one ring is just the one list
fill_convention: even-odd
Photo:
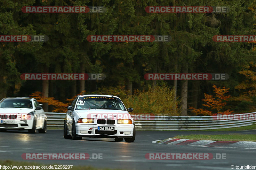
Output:
[[[82,95],[84,92],[85,90],[77,94],[76,96]],[[61,112],[61,113],[65,113],[67,111],[67,107],[71,105],[72,101],[76,98],[76,96],[73,96],[70,99],[66,99],[67,103],[63,103],[63,102],[60,102],[59,100],[56,100],[54,97],[42,96],[42,93],[40,91],[36,91],[30,95],[30,97],[35,98],[40,103],[48,103],[48,105],[52,105],[54,107],[54,110],[52,110],[52,112]]]

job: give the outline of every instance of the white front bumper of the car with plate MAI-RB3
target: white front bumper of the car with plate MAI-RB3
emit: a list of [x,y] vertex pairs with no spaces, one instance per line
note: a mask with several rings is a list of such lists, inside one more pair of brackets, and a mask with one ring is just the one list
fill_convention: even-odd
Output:
[[[98,131],[98,126],[115,127],[115,131]],[[125,125],[97,125],[77,124],[76,135],[86,138],[132,138],[133,124]],[[92,129],[91,129],[92,128]]]

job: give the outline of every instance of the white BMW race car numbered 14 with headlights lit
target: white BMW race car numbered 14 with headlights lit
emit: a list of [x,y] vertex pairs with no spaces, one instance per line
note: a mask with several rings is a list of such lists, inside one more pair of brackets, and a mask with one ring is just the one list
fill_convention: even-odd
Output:
[[[116,142],[135,140],[135,125],[117,96],[79,95],[68,106],[64,120],[64,138],[114,138]],[[129,112],[128,112],[129,111]]]

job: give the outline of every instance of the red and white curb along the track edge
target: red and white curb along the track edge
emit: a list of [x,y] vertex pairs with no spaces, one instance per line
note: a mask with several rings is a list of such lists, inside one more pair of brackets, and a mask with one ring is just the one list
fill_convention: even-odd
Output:
[[217,141],[217,140],[191,140],[191,139],[169,138],[165,140],[155,140],[155,141],[152,141],[152,143],[169,144],[169,145],[256,149],[256,142],[249,142],[249,141]]

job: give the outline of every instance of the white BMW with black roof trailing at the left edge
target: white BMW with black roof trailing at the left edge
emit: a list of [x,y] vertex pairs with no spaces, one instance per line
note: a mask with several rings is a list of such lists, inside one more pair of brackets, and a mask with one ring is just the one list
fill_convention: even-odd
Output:
[[45,133],[47,116],[36,99],[6,97],[0,101],[0,131],[28,130],[29,133]]

